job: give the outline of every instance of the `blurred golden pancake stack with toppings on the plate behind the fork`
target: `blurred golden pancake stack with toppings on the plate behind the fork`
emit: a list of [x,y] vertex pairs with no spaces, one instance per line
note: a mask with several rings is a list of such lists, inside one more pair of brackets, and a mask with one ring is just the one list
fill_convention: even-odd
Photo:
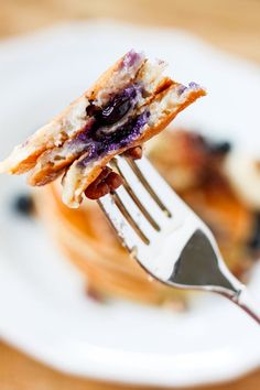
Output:
[[[210,227],[229,269],[245,280],[260,254],[260,206],[245,202],[232,184],[239,172],[227,170],[230,159],[236,159],[231,145],[192,131],[166,129],[145,144],[144,153]],[[254,185],[260,187],[260,175]],[[35,207],[63,253],[86,277],[91,296],[174,310],[188,305],[189,294],[151,282],[131,261],[96,202],[85,199],[79,209],[71,209],[62,203],[61,192],[58,181],[45,186],[35,193]]]

